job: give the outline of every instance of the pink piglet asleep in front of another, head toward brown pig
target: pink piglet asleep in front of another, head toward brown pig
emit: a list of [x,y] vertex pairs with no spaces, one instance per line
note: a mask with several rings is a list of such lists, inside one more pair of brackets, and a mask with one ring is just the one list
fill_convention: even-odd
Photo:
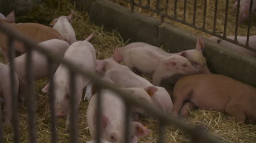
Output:
[[136,69],[147,77],[152,78],[155,86],[160,85],[162,80],[175,74],[185,75],[198,72],[188,59],[181,55],[164,56],[146,47],[127,50],[123,61],[131,70]]

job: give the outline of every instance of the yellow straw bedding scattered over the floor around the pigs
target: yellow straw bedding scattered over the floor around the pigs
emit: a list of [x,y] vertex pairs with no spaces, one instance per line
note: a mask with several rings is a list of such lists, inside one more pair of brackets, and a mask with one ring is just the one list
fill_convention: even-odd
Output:
[[[200,7],[200,2],[198,5]],[[190,1],[188,3],[191,3]],[[129,7],[129,5],[126,5]],[[219,7],[224,7],[224,3],[220,1]],[[46,4],[40,5],[25,17],[19,17],[19,22],[40,22],[48,25],[53,18],[60,15],[68,15],[70,10],[74,9],[66,1],[46,1]],[[182,7],[178,5],[178,10],[181,11]],[[220,9],[223,11],[223,9]],[[191,11],[191,8],[188,8],[188,11]],[[197,12],[199,13],[200,9],[198,8]],[[98,59],[105,59],[112,55],[115,47],[124,46],[127,41],[123,41],[121,36],[116,30],[112,32],[106,32],[103,27],[97,27],[94,23],[89,21],[88,14],[79,13],[74,17],[72,26],[75,29],[78,40],[83,40],[89,36],[92,32],[95,32],[94,38],[91,40],[91,43],[96,48],[96,54]],[[141,10],[141,12],[143,12]],[[146,13],[144,11],[143,13]],[[181,13],[181,12],[179,12]],[[188,12],[189,13],[189,12]],[[210,2],[209,13],[212,13],[212,2]],[[151,13],[147,13],[150,16],[153,16]],[[200,13],[201,14],[201,13]],[[220,15],[220,14],[219,14]],[[156,16],[157,17],[157,16]],[[228,20],[234,21],[234,17],[230,17]],[[208,17],[207,17],[208,19]],[[197,18],[197,24],[200,24],[201,19]],[[183,26],[176,22],[171,22],[175,26],[187,29],[194,34],[205,34],[198,32],[192,28]],[[223,28],[223,21],[217,21],[217,29],[221,30]],[[207,22],[212,24],[211,22]],[[232,34],[233,26],[228,26],[227,33]],[[244,28],[242,25],[240,28]],[[240,30],[241,34],[244,30]],[[252,33],[255,33],[255,27],[252,28]],[[2,56],[1,56],[2,57]],[[3,59],[0,59],[3,61]],[[37,141],[38,142],[50,142],[51,141],[51,125],[50,125],[50,109],[48,103],[48,96],[42,94],[40,90],[48,82],[48,79],[41,79],[36,82],[36,128],[37,128]],[[171,94],[171,87],[164,85]],[[87,101],[82,101],[79,106],[79,142],[86,142],[91,139],[89,134],[88,125],[86,123],[86,109],[88,106]],[[203,125],[207,128],[208,133],[216,136],[216,138],[222,139],[224,142],[255,142],[256,140],[256,126],[251,124],[235,123],[234,121],[226,121],[225,116],[222,113],[216,111],[207,111],[207,110],[194,110],[188,116],[188,120],[185,122],[190,123],[191,125]],[[29,142],[29,132],[28,132],[28,114],[27,114],[27,105],[19,105],[19,125],[20,125],[20,135],[21,142]],[[65,119],[57,120],[57,135],[59,142],[69,142],[69,134],[65,133]],[[142,119],[144,125],[149,129],[152,129],[152,133],[145,138],[139,140],[139,142],[156,142],[158,135],[158,122],[156,119]],[[170,126],[165,129],[166,141],[167,142],[190,142],[190,137],[185,134],[182,130]],[[4,136],[5,142],[14,142],[13,141],[13,128],[11,126],[4,126]]]

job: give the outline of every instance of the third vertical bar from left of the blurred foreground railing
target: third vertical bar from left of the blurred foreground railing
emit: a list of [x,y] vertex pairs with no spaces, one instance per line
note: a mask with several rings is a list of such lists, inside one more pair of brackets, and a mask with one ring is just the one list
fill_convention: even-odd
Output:
[[53,68],[53,60],[48,58],[48,74],[49,74],[49,83],[50,83],[50,88],[49,88],[49,103],[50,103],[50,110],[51,110],[51,140],[53,143],[57,143],[57,133],[56,133],[56,116],[55,116],[55,107],[54,107],[54,100],[55,100],[55,95],[54,95],[54,82],[53,82],[53,77],[54,77],[54,68]]

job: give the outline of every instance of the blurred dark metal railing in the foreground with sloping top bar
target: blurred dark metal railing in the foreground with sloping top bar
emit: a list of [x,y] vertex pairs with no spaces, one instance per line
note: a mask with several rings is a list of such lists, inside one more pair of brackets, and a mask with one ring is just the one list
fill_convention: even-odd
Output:
[[[84,77],[90,77],[93,82],[96,84],[96,86],[100,88],[108,88],[114,92],[117,92],[117,94],[123,98],[125,101],[126,109],[124,110],[126,120],[124,122],[125,124],[125,135],[126,140],[125,142],[130,142],[130,138],[127,136],[129,134],[130,130],[130,109],[132,106],[140,107],[142,109],[150,110],[150,113],[152,113],[154,116],[158,117],[159,120],[159,142],[164,141],[164,133],[161,132],[162,128],[165,126],[174,125],[178,128],[181,128],[186,133],[191,135],[191,138],[195,142],[219,142],[218,140],[214,139],[212,136],[205,133],[203,128],[201,126],[189,126],[186,125],[184,122],[179,121],[176,119],[176,117],[172,117],[170,115],[164,114],[160,109],[155,108],[153,105],[150,105],[150,103],[147,102],[141,102],[139,100],[136,100],[135,97],[129,96],[126,92],[123,92],[117,86],[114,84],[109,84],[107,82],[103,82],[100,78],[98,78],[96,73],[88,72],[87,70],[81,69],[79,66],[76,66],[74,63],[72,63],[69,60],[63,59],[62,57],[55,55],[53,52],[49,51],[48,49],[45,49],[41,46],[39,46],[36,42],[28,39],[26,36],[16,32],[13,29],[10,29],[7,25],[5,25],[3,22],[0,22],[0,32],[6,34],[9,38],[9,66],[10,66],[10,86],[14,86],[15,80],[14,80],[14,40],[18,40],[22,43],[24,43],[26,49],[27,49],[27,95],[28,95],[28,115],[29,115],[29,130],[30,130],[30,142],[37,142],[37,136],[36,136],[36,107],[35,107],[35,89],[34,89],[34,78],[32,73],[32,51],[38,51],[42,54],[44,54],[48,58],[48,66],[49,66],[49,81],[50,81],[50,90],[49,90],[49,104],[50,104],[50,110],[51,110],[51,138],[52,142],[57,142],[57,133],[56,133],[56,117],[55,117],[55,105],[54,105],[54,84],[53,84],[53,76],[54,76],[54,70],[53,70],[53,62],[59,62],[65,66],[68,67],[71,78],[70,88],[71,88],[71,95],[69,97],[70,104],[71,104],[71,128],[70,128],[70,142],[76,143],[78,141],[78,123],[77,123],[77,110],[74,108],[75,104],[75,75],[81,74]],[[101,91],[99,92],[97,106],[101,107]],[[19,121],[18,121],[18,97],[15,96],[15,90],[11,90],[11,95],[13,96],[13,128],[14,128],[14,142],[19,143],[20,142],[20,132],[19,132]],[[97,114],[98,114],[98,120],[100,119],[99,116],[101,115],[102,109],[97,108]],[[0,115],[1,117],[1,115]],[[99,123],[99,122],[98,122]],[[3,127],[2,122],[0,122],[0,139],[3,141]],[[97,142],[101,142],[100,136],[101,132],[99,132],[100,125],[97,124]],[[2,142],[0,140],[0,142]]]

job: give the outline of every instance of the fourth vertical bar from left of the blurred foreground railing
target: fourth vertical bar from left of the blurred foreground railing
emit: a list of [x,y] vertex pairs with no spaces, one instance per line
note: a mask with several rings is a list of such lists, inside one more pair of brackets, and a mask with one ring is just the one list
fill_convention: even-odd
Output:
[[75,105],[76,91],[75,91],[75,73],[72,70],[69,70],[69,78],[70,78],[70,142],[77,143],[78,142],[78,127],[77,127],[77,106]]

